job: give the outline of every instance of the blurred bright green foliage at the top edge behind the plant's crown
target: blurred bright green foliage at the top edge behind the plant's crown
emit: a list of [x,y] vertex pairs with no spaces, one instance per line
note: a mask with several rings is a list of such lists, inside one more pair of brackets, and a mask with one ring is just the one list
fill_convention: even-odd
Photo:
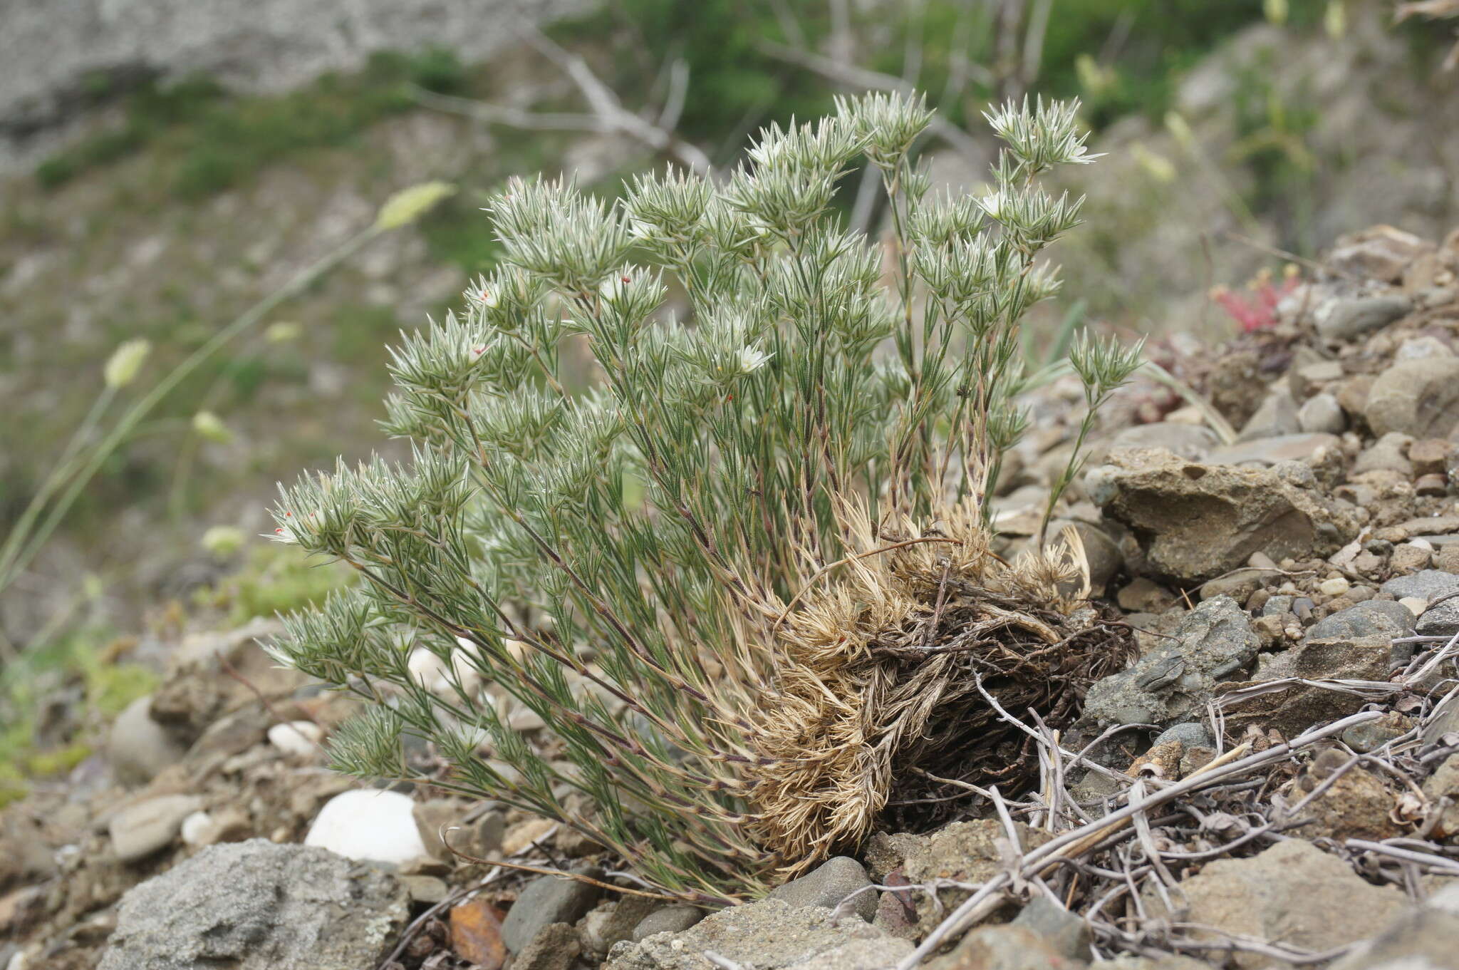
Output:
[[[903,77],[907,51],[918,51],[921,66],[912,80],[951,121],[969,123],[1001,95],[995,85],[975,76],[963,98],[940,101],[940,92],[948,89],[959,58],[989,67],[995,80],[1014,70],[1013,64],[999,64],[999,51],[994,50],[995,6],[929,0],[862,13],[891,29],[889,42],[862,53],[864,66]],[[1317,3],[1296,6],[1293,22],[1310,26],[1320,18]],[[614,58],[614,73],[605,80],[624,92],[661,85],[662,64],[649,60],[648,51],[684,58],[692,73],[678,131],[722,162],[753,128],[816,117],[830,108],[835,92],[824,77],[788,64],[766,45],[804,42],[818,50],[832,31],[827,9],[798,4],[778,12],[766,1],[623,0],[560,23],[552,34],[570,45],[616,38],[614,50],[629,54]],[[785,22],[785,10],[795,13],[794,26]],[[1261,0],[1053,0],[1042,44],[1034,45],[1039,69],[1032,88],[1045,96],[1083,96],[1094,127],[1126,114],[1158,118],[1170,106],[1180,71],[1261,19]],[[954,50],[959,38],[966,47]],[[1015,47],[1027,53],[1024,38]],[[1099,90],[1088,89],[1087,71],[1081,77],[1081,57],[1104,69],[1106,83]]]

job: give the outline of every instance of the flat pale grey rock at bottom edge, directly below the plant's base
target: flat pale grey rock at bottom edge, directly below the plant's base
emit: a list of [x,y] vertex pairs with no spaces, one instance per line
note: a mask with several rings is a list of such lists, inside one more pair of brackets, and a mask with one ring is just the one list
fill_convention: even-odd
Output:
[[756,970],[886,970],[912,944],[856,915],[832,919],[826,909],[765,899],[711,913],[683,932],[619,944],[604,970],[715,970],[705,951]]

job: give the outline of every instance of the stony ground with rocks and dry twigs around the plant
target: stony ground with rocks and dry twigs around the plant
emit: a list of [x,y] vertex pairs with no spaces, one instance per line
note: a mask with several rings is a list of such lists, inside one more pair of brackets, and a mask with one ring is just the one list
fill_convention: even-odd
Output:
[[[948,824],[705,913],[546,820],[330,773],[353,702],[255,621],[169,645],[104,754],[0,814],[0,967],[1459,966],[1456,274],[1459,233],[1377,226],[1221,295],[1230,344],[1150,349],[1193,394],[1131,387],[1062,519],[1141,656],[1023,725],[1037,791],[928,779]],[[1010,553],[1074,400],[1033,400]]]

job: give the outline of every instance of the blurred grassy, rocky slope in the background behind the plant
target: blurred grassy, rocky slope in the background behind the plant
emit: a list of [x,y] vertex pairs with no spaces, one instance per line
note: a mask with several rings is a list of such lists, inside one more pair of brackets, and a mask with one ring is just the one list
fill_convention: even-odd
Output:
[[[512,174],[613,195],[735,163],[836,93],[916,86],[935,179],[975,191],[982,109],[1084,102],[1099,165],[1067,312],[1234,330],[1207,290],[1374,222],[1456,220],[1452,20],[1386,0],[12,0],[0,9],[0,535],[83,420],[112,349],[160,379],[392,191],[458,193],[206,360],[0,591],[0,664],[90,656],[191,610],[242,620],[333,578],[270,553],[276,480],[381,448],[385,344],[490,265]],[[972,137],[967,136],[972,133]],[[846,217],[875,229],[846,181]],[[1265,248],[1263,248],[1265,247]],[[198,417],[200,413],[204,417]],[[204,537],[209,541],[204,543]],[[13,680],[13,678],[12,678]],[[98,688],[99,690],[99,688]]]

